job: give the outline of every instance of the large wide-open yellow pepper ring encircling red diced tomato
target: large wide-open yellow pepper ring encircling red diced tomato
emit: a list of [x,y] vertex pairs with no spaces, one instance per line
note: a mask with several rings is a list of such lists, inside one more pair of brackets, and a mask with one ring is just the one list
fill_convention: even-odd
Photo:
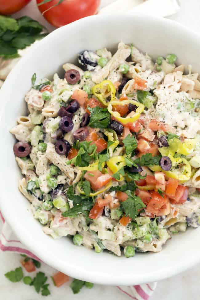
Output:
[[[120,116],[120,114],[118,113],[118,111],[113,111],[113,105],[126,105],[126,104],[134,104],[137,107],[135,114],[132,117],[126,117],[123,118]],[[145,106],[140,103],[137,102],[135,100],[123,100],[123,101],[110,101],[108,104],[108,111],[110,114],[112,114],[114,116],[114,118],[116,118],[119,122],[121,122],[122,124],[127,124],[127,123],[133,123],[135,122],[139,117],[140,114],[142,113],[142,111],[144,110]]]

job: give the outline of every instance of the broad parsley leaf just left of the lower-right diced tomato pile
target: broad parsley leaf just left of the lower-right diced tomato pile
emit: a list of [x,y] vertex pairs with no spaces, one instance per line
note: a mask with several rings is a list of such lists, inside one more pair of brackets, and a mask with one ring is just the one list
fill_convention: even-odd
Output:
[[139,211],[146,207],[140,197],[129,196],[126,201],[121,204],[126,216],[129,216],[133,220],[138,216]]

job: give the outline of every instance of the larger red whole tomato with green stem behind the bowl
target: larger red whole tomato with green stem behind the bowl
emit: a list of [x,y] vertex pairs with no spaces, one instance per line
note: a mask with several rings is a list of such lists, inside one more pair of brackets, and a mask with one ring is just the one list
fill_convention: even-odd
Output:
[[[37,0],[37,3],[39,4],[42,1]],[[52,0],[39,5],[38,8],[42,14],[44,13],[43,15],[48,22],[56,27],[61,27],[78,19],[96,14],[100,0],[63,0],[62,3],[54,6],[57,3],[58,0]]]

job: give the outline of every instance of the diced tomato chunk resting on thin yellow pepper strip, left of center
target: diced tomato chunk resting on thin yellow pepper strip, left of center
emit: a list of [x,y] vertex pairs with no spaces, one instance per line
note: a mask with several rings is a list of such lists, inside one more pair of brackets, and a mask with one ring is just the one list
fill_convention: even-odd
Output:
[[102,174],[99,170],[87,171],[84,178],[90,182],[92,189],[95,191],[105,186],[112,179],[109,174]]

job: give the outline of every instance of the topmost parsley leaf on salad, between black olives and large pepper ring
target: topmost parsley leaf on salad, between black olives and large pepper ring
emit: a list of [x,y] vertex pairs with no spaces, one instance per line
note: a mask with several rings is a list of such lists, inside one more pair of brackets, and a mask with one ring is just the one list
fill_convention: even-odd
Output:
[[110,113],[107,108],[96,106],[91,109],[90,122],[88,126],[92,128],[107,128],[110,122]]

